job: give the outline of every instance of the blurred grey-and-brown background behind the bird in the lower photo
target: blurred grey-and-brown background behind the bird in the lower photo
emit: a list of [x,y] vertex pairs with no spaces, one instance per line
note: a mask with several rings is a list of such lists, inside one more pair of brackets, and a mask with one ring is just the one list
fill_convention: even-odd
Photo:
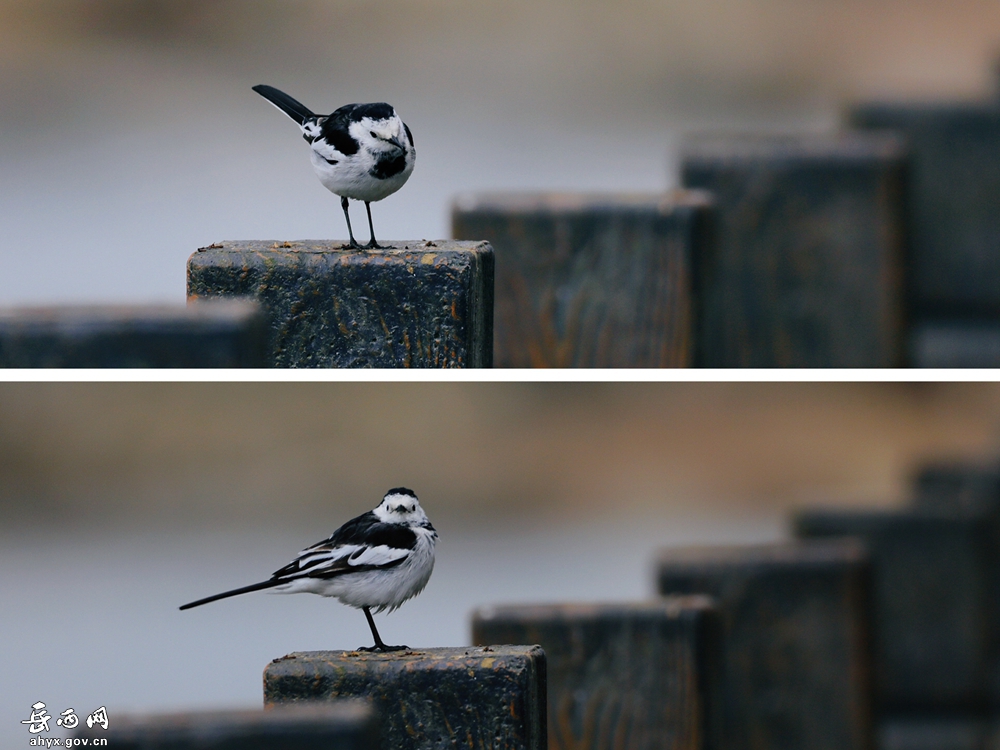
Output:
[[271,659],[367,644],[316,596],[177,607],[267,578],[392,486],[441,538],[380,631],[453,646],[475,606],[651,596],[663,546],[901,504],[924,460],[995,460],[998,425],[995,384],[0,384],[0,745],[26,745],[39,700],[253,707]]

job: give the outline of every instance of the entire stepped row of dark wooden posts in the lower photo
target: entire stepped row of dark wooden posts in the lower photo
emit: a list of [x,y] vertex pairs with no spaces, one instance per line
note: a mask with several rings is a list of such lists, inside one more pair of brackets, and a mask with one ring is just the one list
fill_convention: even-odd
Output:
[[899,510],[799,512],[789,542],[664,550],[659,598],[482,607],[473,646],[289,654],[264,671],[263,713],[120,717],[78,736],[152,750],[992,750],[1000,466],[929,466],[913,495]]

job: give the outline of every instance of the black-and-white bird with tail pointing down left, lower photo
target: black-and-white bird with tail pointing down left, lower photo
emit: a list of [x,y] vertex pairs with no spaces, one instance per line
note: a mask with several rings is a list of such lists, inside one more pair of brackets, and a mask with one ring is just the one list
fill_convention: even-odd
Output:
[[332,596],[361,609],[368,618],[375,646],[359,651],[399,651],[407,647],[382,642],[372,610],[392,612],[423,591],[434,569],[436,542],[437,531],[413,490],[394,487],[374,510],[352,518],[329,538],[302,550],[268,580],[199,599],[181,609],[262,589]]

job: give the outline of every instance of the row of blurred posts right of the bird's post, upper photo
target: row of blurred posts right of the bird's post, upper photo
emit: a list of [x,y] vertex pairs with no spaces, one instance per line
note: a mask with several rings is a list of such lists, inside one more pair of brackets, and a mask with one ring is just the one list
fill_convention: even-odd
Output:
[[664,196],[473,195],[500,367],[1000,365],[1000,104],[713,136]]

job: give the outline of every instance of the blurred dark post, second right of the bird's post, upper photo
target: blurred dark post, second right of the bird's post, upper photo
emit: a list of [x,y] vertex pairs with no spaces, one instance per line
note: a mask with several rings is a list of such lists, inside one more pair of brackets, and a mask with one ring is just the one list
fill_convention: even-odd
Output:
[[683,184],[712,192],[696,364],[903,364],[905,152],[891,136],[698,137]]

